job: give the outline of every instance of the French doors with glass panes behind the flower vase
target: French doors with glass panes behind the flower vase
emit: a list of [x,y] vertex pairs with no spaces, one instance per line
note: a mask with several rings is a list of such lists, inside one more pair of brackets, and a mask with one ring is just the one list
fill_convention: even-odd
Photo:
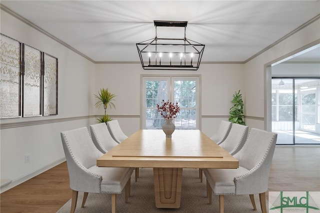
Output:
[[156,104],[177,101],[180,112],[174,119],[176,129],[197,129],[199,120],[199,76],[161,76],[143,79],[142,128],[160,129],[164,123]]

